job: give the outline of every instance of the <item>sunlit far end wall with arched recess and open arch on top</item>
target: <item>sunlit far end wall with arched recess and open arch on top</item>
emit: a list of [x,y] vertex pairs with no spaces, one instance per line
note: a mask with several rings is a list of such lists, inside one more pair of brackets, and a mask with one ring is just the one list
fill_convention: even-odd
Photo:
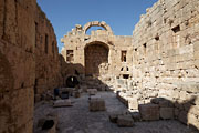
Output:
[[[95,25],[102,27],[104,30],[91,31],[91,34],[87,34],[86,31]],[[71,71],[66,74],[74,73],[75,70],[81,74],[86,74],[86,70],[95,71],[100,74],[95,76],[94,72],[92,73],[93,78],[97,78],[109,85],[113,85],[117,79],[123,79],[124,74],[127,74],[130,79],[133,49],[129,48],[132,48],[132,37],[114,35],[111,27],[104,21],[88,22],[83,28],[77,24],[76,28],[72,29],[61,41],[64,43],[62,55],[65,61],[77,64],[75,66],[71,65]],[[98,54],[86,51],[90,47],[96,50],[98,45],[106,49],[108,54],[105,55],[100,51]],[[126,61],[122,61],[122,51],[126,51]],[[107,61],[97,62],[102,61],[100,60],[102,58],[107,59]]]

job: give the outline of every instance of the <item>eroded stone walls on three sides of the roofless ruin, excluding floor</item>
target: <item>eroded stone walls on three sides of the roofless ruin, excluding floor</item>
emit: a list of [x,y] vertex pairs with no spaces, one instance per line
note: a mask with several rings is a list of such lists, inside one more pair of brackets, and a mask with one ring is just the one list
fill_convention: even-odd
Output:
[[[159,0],[133,37],[114,35],[104,21],[77,24],[62,39],[63,57],[35,0],[0,3],[0,132],[31,133],[34,94],[40,100],[71,75],[85,89],[121,91],[134,110],[143,104],[143,120],[175,116],[199,129],[198,0]],[[104,30],[87,34],[95,25]],[[149,104],[157,98],[165,101]]]

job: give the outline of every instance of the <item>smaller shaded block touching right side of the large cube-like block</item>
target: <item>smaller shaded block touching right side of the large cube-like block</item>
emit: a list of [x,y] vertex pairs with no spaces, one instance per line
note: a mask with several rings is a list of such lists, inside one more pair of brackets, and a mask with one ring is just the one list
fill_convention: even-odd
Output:
[[174,119],[174,108],[160,108],[160,117],[164,120]]

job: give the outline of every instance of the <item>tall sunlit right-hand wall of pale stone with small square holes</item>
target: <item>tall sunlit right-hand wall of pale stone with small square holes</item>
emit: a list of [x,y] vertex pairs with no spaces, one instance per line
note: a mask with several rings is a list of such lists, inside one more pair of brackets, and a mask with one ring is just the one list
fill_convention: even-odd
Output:
[[159,0],[140,17],[132,41],[130,94],[139,103],[166,98],[177,119],[199,127],[199,1]]

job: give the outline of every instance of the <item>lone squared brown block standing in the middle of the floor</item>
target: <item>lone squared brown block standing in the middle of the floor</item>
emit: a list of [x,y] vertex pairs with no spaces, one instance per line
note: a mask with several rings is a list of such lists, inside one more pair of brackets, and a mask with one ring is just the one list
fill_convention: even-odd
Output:
[[90,101],[90,111],[105,111],[105,101],[103,99],[94,99]]

